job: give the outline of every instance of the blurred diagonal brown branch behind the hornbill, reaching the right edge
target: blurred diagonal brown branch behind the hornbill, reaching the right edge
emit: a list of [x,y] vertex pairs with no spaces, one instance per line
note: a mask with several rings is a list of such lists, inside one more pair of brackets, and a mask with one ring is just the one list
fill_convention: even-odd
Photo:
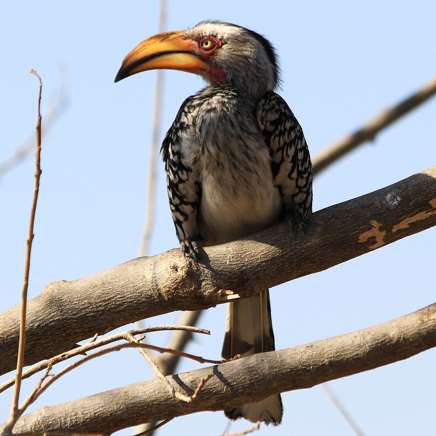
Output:
[[372,141],[375,135],[394,121],[401,118],[404,114],[410,112],[415,107],[429,99],[436,93],[436,77],[428,82],[422,89],[412,94],[410,97],[401,101],[397,105],[382,111],[375,118],[370,120],[366,125],[356,132],[332,144],[319,153],[313,159],[313,172],[319,173],[328,165],[341,158],[346,153],[355,149],[357,146],[366,141]]

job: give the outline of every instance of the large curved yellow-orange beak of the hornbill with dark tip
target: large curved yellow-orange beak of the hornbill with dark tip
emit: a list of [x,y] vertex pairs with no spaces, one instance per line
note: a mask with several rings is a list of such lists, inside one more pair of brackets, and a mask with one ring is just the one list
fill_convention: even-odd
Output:
[[167,32],[142,41],[125,58],[115,82],[132,74],[154,69],[188,71],[201,74],[208,69],[194,51],[195,42],[183,32]]

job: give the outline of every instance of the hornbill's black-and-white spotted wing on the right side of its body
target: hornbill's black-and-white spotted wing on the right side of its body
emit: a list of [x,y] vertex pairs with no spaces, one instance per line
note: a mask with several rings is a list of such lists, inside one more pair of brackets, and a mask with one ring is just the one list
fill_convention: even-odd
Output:
[[274,185],[286,213],[312,212],[312,163],[303,130],[286,102],[267,92],[257,106],[257,122],[270,147]]

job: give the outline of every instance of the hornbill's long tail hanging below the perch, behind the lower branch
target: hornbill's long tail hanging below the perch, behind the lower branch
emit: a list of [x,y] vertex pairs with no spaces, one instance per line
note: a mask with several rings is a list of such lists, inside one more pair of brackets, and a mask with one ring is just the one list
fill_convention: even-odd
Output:
[[[223,359],[230,359],[237,354],[246,357],[274,350],[268,289],[251,298],[229,303],[222,347]],[[280,424],[282,414],[280,395],[273,395],[258,403],[246,404],[225,412],[226,417],[230,419],[242,417],[254,423],[263,421],[274,425]]]

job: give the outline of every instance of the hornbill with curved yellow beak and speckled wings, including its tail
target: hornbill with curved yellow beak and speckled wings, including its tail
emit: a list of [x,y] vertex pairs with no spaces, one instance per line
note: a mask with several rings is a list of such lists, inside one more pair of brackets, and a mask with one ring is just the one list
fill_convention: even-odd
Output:
[[[312,165],[303,130],[275,91],[280,68],[262,35],[223,21],[152,36],[124,59],[115,82],[170,69],[201,76],[163,139],[167,191],[182,252],[247,237],[286,219],[306,230]],[[297,226],[296,226],[297,225]],[[222,357],[274,351],[269,290],[227,304]],[[225,411],[232,419],[278,425],[280,394]]]

